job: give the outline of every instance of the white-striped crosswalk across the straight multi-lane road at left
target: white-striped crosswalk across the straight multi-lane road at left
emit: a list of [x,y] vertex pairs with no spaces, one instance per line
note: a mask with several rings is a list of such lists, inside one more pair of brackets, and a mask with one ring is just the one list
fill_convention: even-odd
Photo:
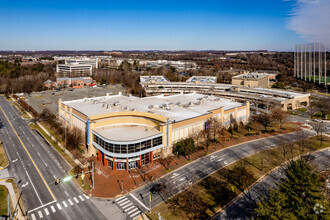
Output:
[[77,205],[81,202],[88,200],[89,197],[85,194],[72,197],[64,201],[55,201],[49,203],[47,206],[42,206],[40,208],[33,209],[29,211],[30,219],[37,220],[43,218],[51,218],[50,216],[56,212],[60,212],[66,208],[70,208],[74,205]]

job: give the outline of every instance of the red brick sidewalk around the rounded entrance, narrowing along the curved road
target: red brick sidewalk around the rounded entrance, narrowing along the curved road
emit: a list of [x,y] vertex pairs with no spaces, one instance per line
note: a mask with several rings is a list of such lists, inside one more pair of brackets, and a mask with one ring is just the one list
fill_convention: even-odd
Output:
[[[302,124],[299,123],[300,129]],[[291,132],[299,129],[292,129]],[[260,134],[258,136],[244,136],[240,140],[223,141],[222,143],[217,143],[209,147],[209,152],[207,155],[223,150],[229,147],[233,147],[239,144],[245,144],[251,141],[255,141],[261,138],[268,138],[276,136],[275,134],[286,134],[286,132],[274,132],[273,134]],[[197,151],[191,155],[191,162],[203,158],[206,156],[205,151]],[[174,158],[170,163],[170,171],[167,171],[163,165],[161,165],[157,160],[153,164],[148,164],[142,169],[132,169],[130,171],[126,170],[112,170],[110,167],[104,167],[102,162],[93,158],[95,165],[95,189],[89,190],[87,193],[94,197],[99,198],[114,198],[123,194],[126,194],[132,190],[142,187],[156,179],[161,178],[170,171],[174,171],[178,168],[182,168],[187,163],[186,158],[180,157]],[[84,169],[88,171],[88,169]],[[91,185],[89,175],[84,178],[84,183]],[[81,181],[80,179],[78,181]],[[123,189],[122,189],[123,181]]]

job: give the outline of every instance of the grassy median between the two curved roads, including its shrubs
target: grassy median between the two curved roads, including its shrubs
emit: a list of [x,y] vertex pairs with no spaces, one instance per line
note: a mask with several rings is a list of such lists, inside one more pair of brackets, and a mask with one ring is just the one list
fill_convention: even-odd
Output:
[[248,156],[161,203],[147,215],[151,219],[158,219],[157,213],[165,219],[207,219],[285,161],[330,147],[330,138],[325,139],[322,146],[313,137]]

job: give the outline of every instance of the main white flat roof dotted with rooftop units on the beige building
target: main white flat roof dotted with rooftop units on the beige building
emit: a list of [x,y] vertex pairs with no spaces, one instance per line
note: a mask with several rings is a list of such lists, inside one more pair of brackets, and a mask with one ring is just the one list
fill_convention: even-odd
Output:
[[111,112],[139,111],[162,115],[175,121],[201,116],[220,107],[227,110],[244,105],[230,99],[196,93],[171,96],[159,95],[145,98],[123,95],[101,96],[65,101],[63,104],[86,116]]

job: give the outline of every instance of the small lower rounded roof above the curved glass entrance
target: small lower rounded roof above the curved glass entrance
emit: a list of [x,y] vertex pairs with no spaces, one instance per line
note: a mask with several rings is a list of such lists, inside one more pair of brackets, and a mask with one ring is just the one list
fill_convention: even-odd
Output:
[[133,141],[161,134],[155,127],[145,125],[114,125],[94,129],[102,137],[112,141]]

